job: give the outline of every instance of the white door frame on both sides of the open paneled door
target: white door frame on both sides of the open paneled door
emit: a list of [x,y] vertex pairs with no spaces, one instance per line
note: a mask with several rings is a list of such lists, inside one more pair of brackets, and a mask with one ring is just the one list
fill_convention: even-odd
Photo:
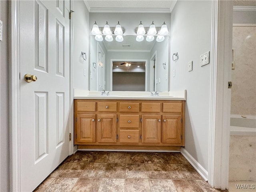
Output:
[[[10,191],[21,190],[20,178],[20,2],[10,1],[11,38],[9,43],[10,50],[10,70],[9,70],[9,127],[10,127]],[[70,9],[74,2],[70,1]],[[68,122],[70,133],[74,135],[74,93],[73,93],[73,21],[70,21],[70,113]],[[73,138],[73,137],[71,137]],[[70,142],[69,154],[73,153],[74,141]]]

